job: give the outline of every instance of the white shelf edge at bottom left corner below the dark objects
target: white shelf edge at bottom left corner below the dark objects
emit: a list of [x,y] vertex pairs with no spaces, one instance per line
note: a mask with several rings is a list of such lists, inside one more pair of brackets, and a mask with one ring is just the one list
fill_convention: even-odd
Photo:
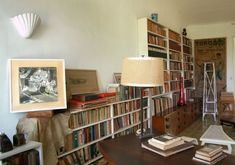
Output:
[[30,141],[27,144],[24,144],[19,147],[15,147],[13,150],[5,152],[5,153],[0,153],[0,165],[4,164],[3,160],[6,158],[11,158],[17,154],[29,151],[29,150],[37,150],[39,153],[39,161],[40,165],[43,165],[43,153],[42,153],[42,143],[35,142],[35,141]]

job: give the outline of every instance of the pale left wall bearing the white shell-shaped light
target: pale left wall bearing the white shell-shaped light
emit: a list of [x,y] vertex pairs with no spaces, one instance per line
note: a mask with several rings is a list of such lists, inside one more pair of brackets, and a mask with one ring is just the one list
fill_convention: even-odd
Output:
[[[35,12],[42,23],[21,38],[10,18]],[[96,69],[100,90],[121,72],[123,57],[137,55],[137,18],[159,13],[159,22],[180,31],[182,21],[164,0],[1,0],[0,131],[12,137],[24,114],[9,113],[9,58],[63,58],[67,68]]]

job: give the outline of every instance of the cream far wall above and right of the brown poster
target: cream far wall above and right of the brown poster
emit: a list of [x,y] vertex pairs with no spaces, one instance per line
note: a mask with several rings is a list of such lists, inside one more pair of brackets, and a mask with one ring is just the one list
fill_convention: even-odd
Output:
[[[234,46],[235,26],[231,23],[191,25],[187,27],[192,39],[227,38],[227,91],[234,91]],[[235,92],[235,91],[234,91]]]

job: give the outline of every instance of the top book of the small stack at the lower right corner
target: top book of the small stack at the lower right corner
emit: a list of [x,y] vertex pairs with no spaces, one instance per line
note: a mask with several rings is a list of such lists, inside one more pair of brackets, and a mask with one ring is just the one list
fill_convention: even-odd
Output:
[[196,151],[196,154],[204,155],[207,157],[211,157],[218,152],[222,151],[222,146],[215,144],[208,144]]

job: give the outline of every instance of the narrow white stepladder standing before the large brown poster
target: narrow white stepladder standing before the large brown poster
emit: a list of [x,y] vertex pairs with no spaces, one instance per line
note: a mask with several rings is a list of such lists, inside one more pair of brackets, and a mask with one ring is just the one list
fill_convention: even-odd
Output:
[[203,121],[206,115],[213,115],[214,121],[216,121],[216,115],[218,114],[215,78],[214,62],[205,62],[203,84]]

